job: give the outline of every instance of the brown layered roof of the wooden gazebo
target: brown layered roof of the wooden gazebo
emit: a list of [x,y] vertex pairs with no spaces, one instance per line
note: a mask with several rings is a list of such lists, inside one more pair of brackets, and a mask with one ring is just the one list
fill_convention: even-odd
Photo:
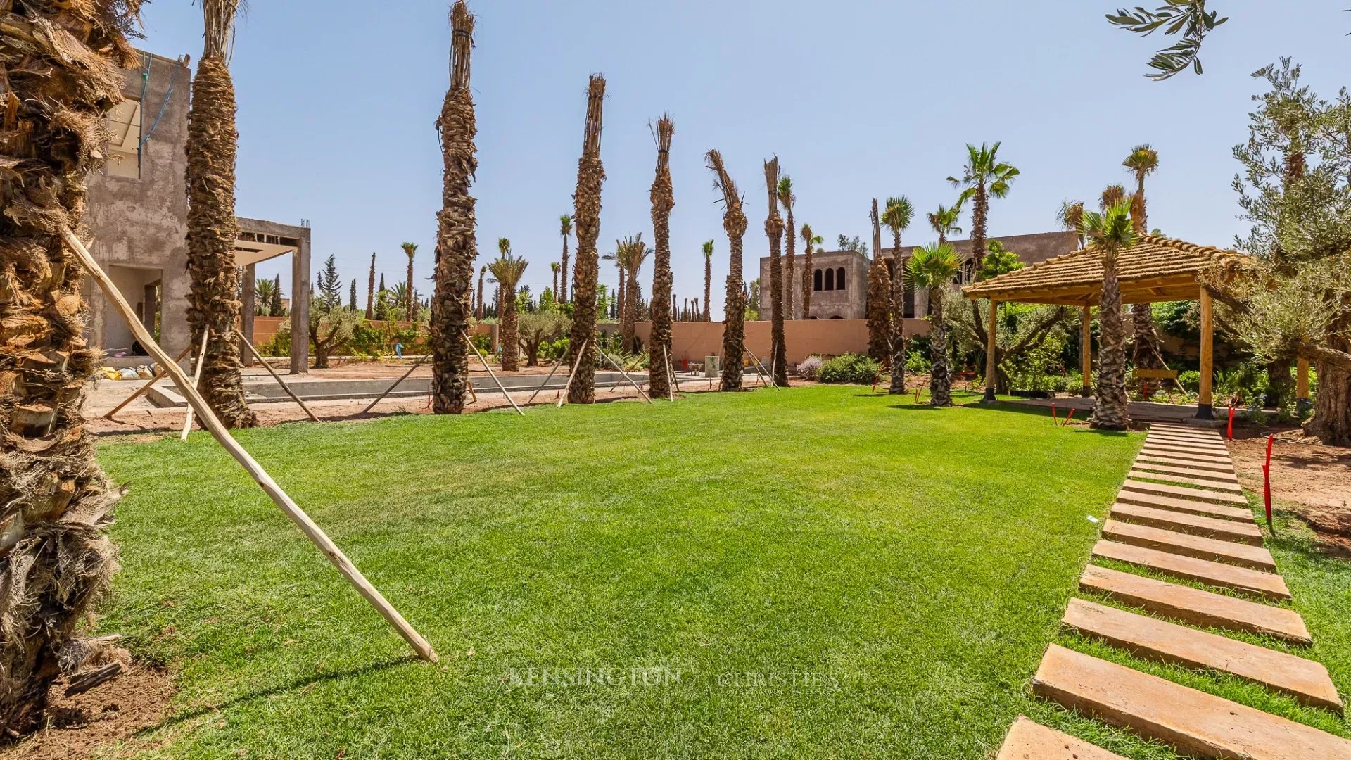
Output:
[[[1204,272],[1228,272],[1247,257],[1173,238],[1144,235],[1120,253],[1117,276],[1124,303],[1194,299]],[[962,288],[969,299],[1094,306],[1102,293],[1102,254],[1074,250],[1008,275]]]

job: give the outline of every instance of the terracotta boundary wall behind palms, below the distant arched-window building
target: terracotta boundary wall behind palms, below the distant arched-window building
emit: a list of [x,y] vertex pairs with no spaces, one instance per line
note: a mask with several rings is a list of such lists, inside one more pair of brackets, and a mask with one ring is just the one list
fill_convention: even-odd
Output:
[[[905,331],[911,335],[927,335],[928,322],[907,319]],[[651,339],[653,323],[638,323],[638,338],[643,345]],[[790,319],[784,323],[784,342],[788,345],[788,361],[796,364],[812,354],[839,356],[843,353],[867,352],[866,319]],[[761,361],[769,364],[770,323],[746,323],[746,348]],[[676,322],[671,325],[671,361],[701,362],[704,357],[723,353],[721,322]],[[747,357],[747,361],[750,357]]]

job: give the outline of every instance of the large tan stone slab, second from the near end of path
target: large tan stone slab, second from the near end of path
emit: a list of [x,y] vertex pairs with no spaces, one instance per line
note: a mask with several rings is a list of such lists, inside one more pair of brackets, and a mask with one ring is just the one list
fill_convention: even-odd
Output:
[[1351,760],[1351,741],[1052,644],[1032,691],[1198,757]]

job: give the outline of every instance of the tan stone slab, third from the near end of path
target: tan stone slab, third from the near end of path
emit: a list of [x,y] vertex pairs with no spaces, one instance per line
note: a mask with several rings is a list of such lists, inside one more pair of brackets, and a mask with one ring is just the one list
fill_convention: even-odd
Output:
[[1289,694],[1304,705],[1342,713],[1342,698],[1328,669],[1313,660],[1086,599],[1070,599],[1061,622],[1146,660],[1224,671]]

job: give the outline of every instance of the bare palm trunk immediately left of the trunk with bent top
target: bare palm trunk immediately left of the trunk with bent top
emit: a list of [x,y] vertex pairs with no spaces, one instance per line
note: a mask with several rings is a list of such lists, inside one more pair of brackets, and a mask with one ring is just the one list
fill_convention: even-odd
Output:
[[648,338],[648,366],[658,368],[648,373],[648,389],[654,396],[670,396],[670,380],[663,369],[671,358],[671,312],[676,295],[671,292],[671,208],[676,207],[676,192],[671,188],[670,151],[676,137],[676,124],[669,114],[657,120],[657,172],[648,197],[653,201],[653,238],[657,243],[657,258],[653,261],[653,334]]

